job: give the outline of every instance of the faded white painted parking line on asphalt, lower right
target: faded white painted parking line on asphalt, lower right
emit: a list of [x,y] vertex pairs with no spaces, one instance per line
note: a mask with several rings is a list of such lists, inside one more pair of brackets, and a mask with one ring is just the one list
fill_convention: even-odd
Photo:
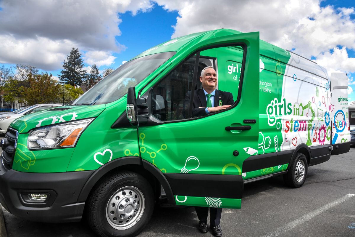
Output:
[[322,206],[321,208],[318,208],[317,210],[315,211],[311,211],[309,212],[308,214],[300,217],[299,219],[296,219],[294,221],[291,221],[289,223],[287,223],[286,225],[283,225],[281,226],[280,228],[277,228],[275,231],[273,232],[270,232],[270,233],[267,233],[266,235],[263,235],[261,237],[275,237],[275,236],[278,236],[278,235],[281,235],[289,230],[292,230],[293,228],[295,228],[296,226],[299,226],[301,225],[302,223],[308,221],[309,219],[321,214],[323,211],[326,211],[340,203],[342,203],[343,201],[346,201],[348,200],[349,198],[352,198],[353,196],[355,196],[355,194],[347,194],[331,203],[328,203],[324,206]]

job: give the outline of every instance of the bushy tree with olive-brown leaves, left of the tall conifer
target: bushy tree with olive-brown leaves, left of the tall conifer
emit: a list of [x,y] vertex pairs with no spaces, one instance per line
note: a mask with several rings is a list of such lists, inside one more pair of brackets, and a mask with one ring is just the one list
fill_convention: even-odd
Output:
[[28,84],[21,92],[21,99],[27,104],[53,103],[59,97],[60,84],[52,74],[29,74]]

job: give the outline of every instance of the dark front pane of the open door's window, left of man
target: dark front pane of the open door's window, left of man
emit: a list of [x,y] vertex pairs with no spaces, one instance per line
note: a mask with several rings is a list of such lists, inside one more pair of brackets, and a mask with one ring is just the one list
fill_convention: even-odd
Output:
[[[183,115],[186,95],[191,91],[196,56],[183,61],[166,75],[152,92],[152,114],[162,121],[185,119]],[[200,58],[198,72],[213,66],[213,59]],[[197,88],[196,88],[197,87]],[[195,89],[202,88],[200,80]]]

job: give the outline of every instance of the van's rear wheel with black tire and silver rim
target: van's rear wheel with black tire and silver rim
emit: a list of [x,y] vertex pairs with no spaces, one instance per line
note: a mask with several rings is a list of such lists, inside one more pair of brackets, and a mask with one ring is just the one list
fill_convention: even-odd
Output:
[[307,176],[307,158],[303,153],[296,153],[290,162],[289,171],[284,174],[285,183],[292,188],[301,187]]

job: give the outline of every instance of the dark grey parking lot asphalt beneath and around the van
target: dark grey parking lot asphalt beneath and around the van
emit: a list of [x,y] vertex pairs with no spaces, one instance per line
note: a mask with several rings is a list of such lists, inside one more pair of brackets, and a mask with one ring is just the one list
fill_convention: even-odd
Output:
[[[298,189],[284,185],[282,177],[244,185],[241,209],[223,209],[223,236],[323,237],[355,236],[355,146],[308,168]],[[4,210],[4,209],[3,209]],[[39,223],[4,210],[9,237],[94,237],[86,222]],[[193,207],[160,205],[139,237],[212,236],[197,230]]]

